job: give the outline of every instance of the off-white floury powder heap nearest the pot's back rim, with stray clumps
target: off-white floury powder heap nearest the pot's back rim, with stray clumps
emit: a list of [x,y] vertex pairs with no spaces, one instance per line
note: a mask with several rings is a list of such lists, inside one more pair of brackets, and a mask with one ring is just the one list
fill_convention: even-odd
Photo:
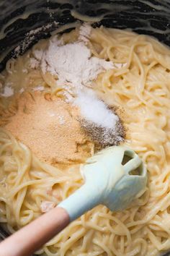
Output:
[[74,93],[75,88],[90,85],[101,72],[124,67],[124,64],[114,64],[112,61],[91,56],[90,49],[85,45],[90,33],[91,26],[84,23],[79,30],[79,41],[66,45],[56,35],[50,40],[46,51],[34,51],[35,58],[30,58],[30,67],[36,69],[41,66],[43,73],[57,75],[57,85],[72,85]]

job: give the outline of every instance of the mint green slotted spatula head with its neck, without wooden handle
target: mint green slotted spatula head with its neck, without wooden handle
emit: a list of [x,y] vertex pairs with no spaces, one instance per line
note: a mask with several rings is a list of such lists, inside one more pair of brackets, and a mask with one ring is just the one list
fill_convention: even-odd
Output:
[[85,184],[58,206],[65,208],[71,221],[94,206],[123,210],[146,189],[143,161],[130,148],[114,146],[89,158],[81,166]]

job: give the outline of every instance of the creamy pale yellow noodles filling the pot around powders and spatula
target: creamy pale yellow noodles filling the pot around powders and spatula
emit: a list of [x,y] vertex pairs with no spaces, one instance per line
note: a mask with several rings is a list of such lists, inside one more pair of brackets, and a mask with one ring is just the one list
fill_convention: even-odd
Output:
[[[78,29],[62,37],[66,43],[74,41]],[[45,92],[64,98],[57,77],[30,67],[33,50],[47,44],[41,40],[24,56],[9,60],[1,84],[11,83],[15,93],[42,85]],[[93,86],[106,103],[122,109],[128,131],[125,145],[147,164],[148,189],[122,212],[112,213],[102,205],[90,210],[37,254],[159,255],[170,248],[170,50],[146,35],[104,27],[91,30],[88,46],[94,56],[123,64],[99,74]],[[9,101],[1,98],[1,113]],[[11,232],[40,216],[42,201],[57,205],[83,182],[78,164],[42,163],[3,128],[0,144],[0,222]]]

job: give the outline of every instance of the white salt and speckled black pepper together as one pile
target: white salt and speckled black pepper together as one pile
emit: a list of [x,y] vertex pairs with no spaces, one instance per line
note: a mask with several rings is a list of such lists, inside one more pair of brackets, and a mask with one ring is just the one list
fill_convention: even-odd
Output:
[[81,127],[99,147],[119,145],[124,140],[125,129],[119,116],[99,100],[93,91],[80,93],[74,103],[81,110]]

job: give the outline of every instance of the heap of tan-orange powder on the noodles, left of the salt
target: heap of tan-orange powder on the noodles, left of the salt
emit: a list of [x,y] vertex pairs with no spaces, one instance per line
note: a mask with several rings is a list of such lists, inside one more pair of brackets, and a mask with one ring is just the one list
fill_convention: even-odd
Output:
[[91,142],[76,119],[76,107],[40,92],[20,95],[17,105],[17,113],[5,128],[42,161],[81,162],[90,156]]

